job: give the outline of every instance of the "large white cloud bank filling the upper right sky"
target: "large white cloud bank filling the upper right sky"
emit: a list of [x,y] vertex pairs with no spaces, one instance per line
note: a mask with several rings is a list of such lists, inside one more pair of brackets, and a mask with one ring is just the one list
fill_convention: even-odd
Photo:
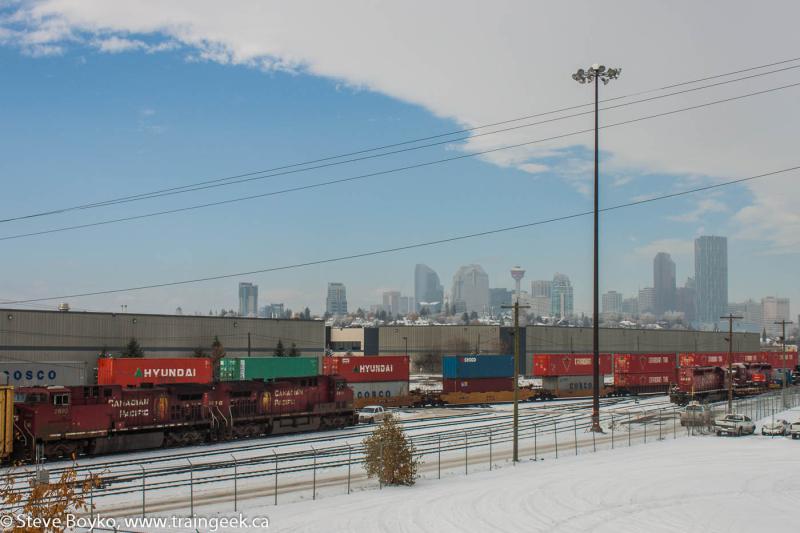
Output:
[[[619,80],[602,87],[602,96],[615,97],[783,59],[776,54],[796,48],[798,16],[800,4],[792,0],[773,2],[769,9],[745,0],[233,0],[224,7],[211,0],[40,0],[23,1],[0,20],[0,41],[13,42],[32,55],[62,53],[79,41],[98,43],[109,53],[152,53],[181,46],[192,60],[323,76],[424,106],[471,127],[588,102],[591,91],[574,83],[570,74],[594,61],[623,67]],[[613,30],[598,38],[597,28]],[[143,46],[153,39],[163,41]],[[601,123],[796,79],[796,72],[786,72],[609,110],[602,113]],[[757,174],[767,170],[765,165],[793,166],[798,162],[798,93],[798,88],[787,89],[604,130],[603,170],[625,177],[646,172],[708,181]],[[557,115],[530,122],[553,116]],[[591,115],[574,117],[475,137],[459,149],[491,149],[591,126]],[[590,176],[543,161],[574,154],[575,145],[591,149],[592,136],[483,158],[528,172],[547,164],[586,194]],[[625,177],[615,182],[623,185]],[[771,184],[749,183],[752,209],[742,210],[733,220],[743,238],[758,236],[785,245],[788,235],[800,233],[800,221],[790,216],[786,205],[788,198],[800,196],[800,181],[787,182],[780,193],[766,191]]]

